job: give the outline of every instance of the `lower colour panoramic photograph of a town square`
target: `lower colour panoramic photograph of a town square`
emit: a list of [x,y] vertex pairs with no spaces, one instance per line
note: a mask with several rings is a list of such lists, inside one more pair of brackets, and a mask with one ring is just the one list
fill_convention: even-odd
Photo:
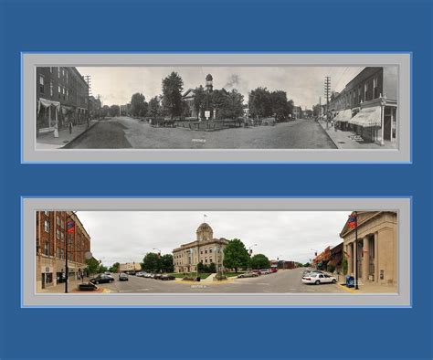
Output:
[[396,211],[36,211],[37,293],[396,293]]

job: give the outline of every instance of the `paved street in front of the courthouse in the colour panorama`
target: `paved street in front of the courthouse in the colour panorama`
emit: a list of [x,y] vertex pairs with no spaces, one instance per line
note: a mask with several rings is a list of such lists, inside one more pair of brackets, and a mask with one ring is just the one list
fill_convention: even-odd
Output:
[[115,281],[111,284],[100,284],[106,292],[131,293],[131,292],[297,292],[297,293],[341,293],[345,292],[337,284],[306,285],[301,282],[301,270],[279,270],[269,275],[261,275],[257,278],[235,279],[227,282],[215,282],[215,284],[201,282],[159,281],[130,276],[129,281]]

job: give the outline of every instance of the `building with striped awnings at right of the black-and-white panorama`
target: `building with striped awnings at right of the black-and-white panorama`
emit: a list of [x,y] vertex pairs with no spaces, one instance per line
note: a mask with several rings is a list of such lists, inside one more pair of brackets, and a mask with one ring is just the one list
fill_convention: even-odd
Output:
[[334,93],[329,103],[331,120],[341,130],[361,135],[365,141],[396,142],[396,67],[367,67]]

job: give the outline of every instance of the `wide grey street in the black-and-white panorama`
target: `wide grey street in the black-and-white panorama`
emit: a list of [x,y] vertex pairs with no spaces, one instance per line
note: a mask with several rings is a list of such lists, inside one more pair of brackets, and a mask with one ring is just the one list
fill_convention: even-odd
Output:
[[198,132],[156,128],[129,117],[100,121],[70,143],[76,149],[335,149],[322,126],[312,120],[275,126]]

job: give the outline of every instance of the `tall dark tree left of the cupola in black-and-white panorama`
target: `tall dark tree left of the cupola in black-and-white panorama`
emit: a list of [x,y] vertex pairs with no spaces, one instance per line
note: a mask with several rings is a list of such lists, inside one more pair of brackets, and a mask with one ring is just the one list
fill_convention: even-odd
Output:
[[163,107],[164,110],[173,119],[174,116],[180,116],[183,111],[182,91],[184,90],[184,80],[172,72],[163,79]]

